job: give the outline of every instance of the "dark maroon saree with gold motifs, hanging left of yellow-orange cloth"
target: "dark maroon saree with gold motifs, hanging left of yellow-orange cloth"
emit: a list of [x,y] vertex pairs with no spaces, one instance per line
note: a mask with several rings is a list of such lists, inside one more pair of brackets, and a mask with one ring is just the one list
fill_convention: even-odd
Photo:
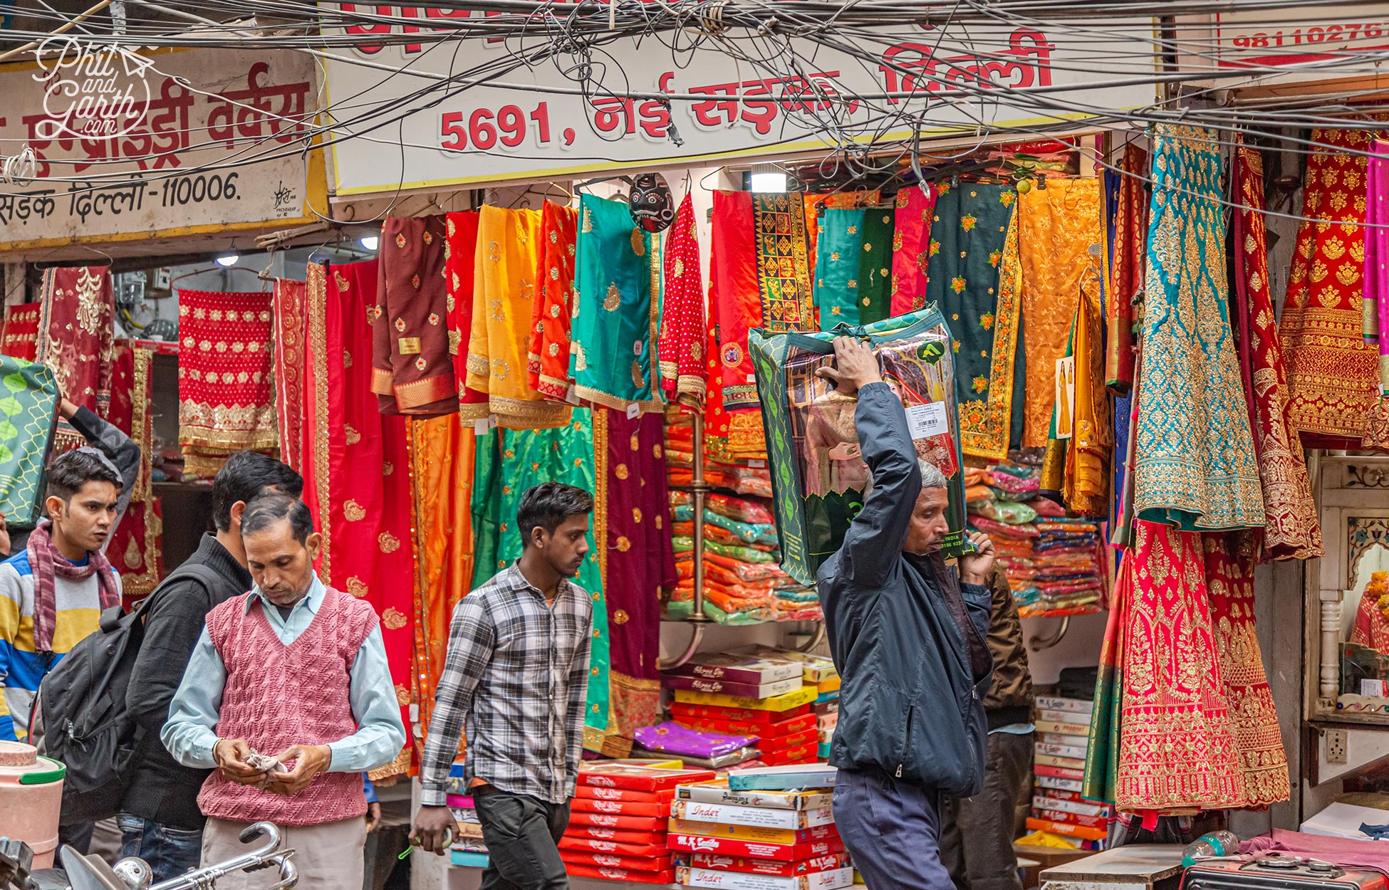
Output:
[[444,218],[388,217],[372,325],[371,392],[383,414],[438,417],[458,408],[449,351]]

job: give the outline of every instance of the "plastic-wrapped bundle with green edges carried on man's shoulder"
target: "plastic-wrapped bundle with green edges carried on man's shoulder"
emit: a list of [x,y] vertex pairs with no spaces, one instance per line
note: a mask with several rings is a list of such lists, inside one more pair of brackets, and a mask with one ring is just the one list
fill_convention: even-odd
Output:
[[835,336],[868,340],[883,380],[901,398],[920,458],[950,480],[950,530],[943,553],[958,555],[965,494],[950,330],[932,305],[863,328],[824,333],[753,330],[749,349],[763,403],[772,501],[782,568],[804,585],[843,543],[845,532],[872,489],[854,428],[857,396],[845,396],[815,372],[833,362]]

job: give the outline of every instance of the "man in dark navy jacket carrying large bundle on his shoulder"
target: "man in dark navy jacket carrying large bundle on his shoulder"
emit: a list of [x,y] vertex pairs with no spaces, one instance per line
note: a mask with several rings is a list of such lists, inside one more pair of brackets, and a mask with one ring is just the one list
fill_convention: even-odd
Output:
[[918,460],[872,351],[838,337],[835,358],[818,373],[858,393],[854,426],[872,472],[872,493],[817,575],[843,678],[829,754],[835,823],[872,890],[950,890],[940,797],[983,782],[993,544],[974,535],[958,573],[946,565],[946,478]]

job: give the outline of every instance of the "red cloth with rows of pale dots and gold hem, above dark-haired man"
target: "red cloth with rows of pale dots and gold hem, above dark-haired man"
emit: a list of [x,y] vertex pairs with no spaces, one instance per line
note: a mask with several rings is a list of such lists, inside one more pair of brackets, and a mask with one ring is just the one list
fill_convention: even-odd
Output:
[[274,451],[274,324],[268,292],[181,290],[178,440],[183,472],[215,476],[238,451]]

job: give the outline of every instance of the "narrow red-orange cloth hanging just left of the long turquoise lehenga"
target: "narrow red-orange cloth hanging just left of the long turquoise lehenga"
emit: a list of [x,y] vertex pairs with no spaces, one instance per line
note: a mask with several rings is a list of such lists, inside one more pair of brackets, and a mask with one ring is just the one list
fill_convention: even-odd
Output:
[[1135,299],[1142,299],[1147,246],[1147,151],[1132,142],[1120,160],[1118,194],[1110,240],[1108,294],[1106,321],[1108,344],[1104,355],[1104,385],[1115,396],[1133,389],[1133,332],[1142,318]]

